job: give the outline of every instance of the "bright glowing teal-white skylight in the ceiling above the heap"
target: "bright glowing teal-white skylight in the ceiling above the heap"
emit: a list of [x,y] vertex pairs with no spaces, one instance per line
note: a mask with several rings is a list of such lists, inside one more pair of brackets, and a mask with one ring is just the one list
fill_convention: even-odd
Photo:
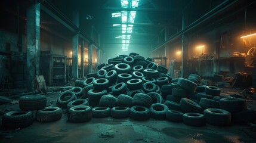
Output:
[[[140,0],[121,0],[122,8],[136,8]],[[112,13],[112,17],[121,17],[122,21],[122,50],[128,51],[129,41],[131,39],[132,27],[136,17],[136,11],[121,11],[121,13]],[[119,26],[120,24],[113,24]]]

